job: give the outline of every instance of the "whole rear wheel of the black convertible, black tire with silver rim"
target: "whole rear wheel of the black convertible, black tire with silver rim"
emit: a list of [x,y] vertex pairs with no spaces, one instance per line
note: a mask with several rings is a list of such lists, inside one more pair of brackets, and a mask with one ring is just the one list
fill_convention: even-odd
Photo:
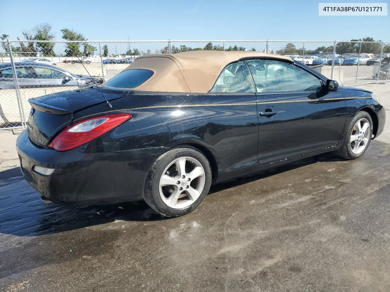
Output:
[[144,200],[163,216],[182,216],[199,207],[210,186],[211,166],[207,158],[191,146],[181,146],[154,162],[145,182]]

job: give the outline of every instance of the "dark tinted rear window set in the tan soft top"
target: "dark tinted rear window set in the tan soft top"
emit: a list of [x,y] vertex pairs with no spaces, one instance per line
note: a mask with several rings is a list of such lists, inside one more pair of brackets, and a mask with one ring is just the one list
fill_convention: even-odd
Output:
[[153,71],[146,69],[129,69],[115,75],[104,85],[116,88],[134,88],[152,77]]

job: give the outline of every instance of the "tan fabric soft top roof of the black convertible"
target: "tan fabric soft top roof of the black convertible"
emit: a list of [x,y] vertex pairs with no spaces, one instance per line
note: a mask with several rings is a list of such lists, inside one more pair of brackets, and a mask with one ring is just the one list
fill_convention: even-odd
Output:
[[125,70],[149,69],[154,72],[150,79],[134,90],[206,93],[226,65],[243,58],[256,57],[293,62],[285,56],[255,51],[188,51],[173,55],[140,56]]

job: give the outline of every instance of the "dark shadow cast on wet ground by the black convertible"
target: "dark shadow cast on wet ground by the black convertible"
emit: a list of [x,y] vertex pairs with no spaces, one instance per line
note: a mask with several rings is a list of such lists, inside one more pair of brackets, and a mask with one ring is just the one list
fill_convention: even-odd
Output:
[[[275,169],[219,183],[212,186],[209,195],[316,162],[334,161],[342,161],[342,158],[329,153],[306,158]],[[73,208],[56,204],[45,205],[39,193],[21,176],[18,167],[0,172],[0,233],[3,234],[38,236],[100,225],[115,220],[157,221],[165,219],[144,201]]]

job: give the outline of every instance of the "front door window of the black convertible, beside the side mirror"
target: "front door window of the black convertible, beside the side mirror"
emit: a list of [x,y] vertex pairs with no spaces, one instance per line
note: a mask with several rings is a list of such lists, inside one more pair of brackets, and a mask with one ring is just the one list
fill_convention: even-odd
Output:
[[247,60],[257,92],[320,91],[322,83],[313,74],[277,60]]

